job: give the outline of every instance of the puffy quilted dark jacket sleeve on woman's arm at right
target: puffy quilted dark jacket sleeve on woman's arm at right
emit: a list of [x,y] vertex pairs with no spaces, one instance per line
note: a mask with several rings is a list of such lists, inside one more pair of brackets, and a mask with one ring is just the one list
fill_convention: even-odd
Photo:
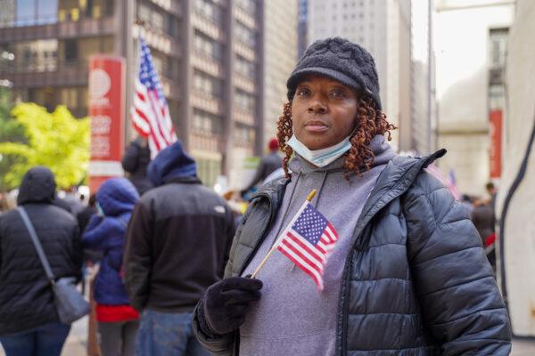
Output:
[[508,355],[506,307],[465,207],[427,173],[404,206],[416,294],[441,354]]

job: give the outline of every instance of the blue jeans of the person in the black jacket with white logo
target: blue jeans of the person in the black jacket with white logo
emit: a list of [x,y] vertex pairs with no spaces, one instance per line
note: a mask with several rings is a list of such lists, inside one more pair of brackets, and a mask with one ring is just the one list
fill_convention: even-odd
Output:
[[192,332],[192,314],[154,312],[141,315],[136,340],[138,356],[210,356]]

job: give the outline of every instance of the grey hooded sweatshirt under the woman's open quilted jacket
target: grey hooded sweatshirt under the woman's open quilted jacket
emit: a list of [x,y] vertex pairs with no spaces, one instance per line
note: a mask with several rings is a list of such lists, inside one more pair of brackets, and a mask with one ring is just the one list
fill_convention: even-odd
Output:
[[251,305],[240,328],[240,355],[334,355],[336,312],[350,239],[377,177],[396,155],[383,135],[374,137],[371,148],[375,155],[372,169],[361,176],[351,175],[349,182],[342,175],[344,158],[323,168],[310,165],[300,156],[290,162],[292,182],[286,188],[276,221],[243,275],[257,268],[311,190],[318,190],[312,205],[333,224],[339,240],[325,265],[322,292],[280,252],[269,257],[257,277],[264,282],[262,297]]

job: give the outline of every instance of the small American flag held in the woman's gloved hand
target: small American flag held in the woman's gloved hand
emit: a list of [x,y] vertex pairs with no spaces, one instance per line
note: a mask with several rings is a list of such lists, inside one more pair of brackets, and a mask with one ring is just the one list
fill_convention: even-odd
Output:
[[334,227],[308,201],[283,232],[277,249],[307,273],[323,290],[323,272],[327,256],[338,240]]

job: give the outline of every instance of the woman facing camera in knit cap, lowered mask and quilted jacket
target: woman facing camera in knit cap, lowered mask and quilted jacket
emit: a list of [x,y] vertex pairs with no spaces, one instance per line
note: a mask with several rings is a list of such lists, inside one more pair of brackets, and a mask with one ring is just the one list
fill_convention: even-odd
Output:
[[[193,315],[216,355],[506,355],[510,328],[481,239],[424,167],[384,141],[372,56],[329,38],[287,82],[278,121],[289,179],[260,189],[238,228],[225,279]],[[292,154],[295,154],[292,158]],[[310,190],[338,231],[325,288],[276,252],[254,271]],[[261,293],[261,295],[260,295]]]

